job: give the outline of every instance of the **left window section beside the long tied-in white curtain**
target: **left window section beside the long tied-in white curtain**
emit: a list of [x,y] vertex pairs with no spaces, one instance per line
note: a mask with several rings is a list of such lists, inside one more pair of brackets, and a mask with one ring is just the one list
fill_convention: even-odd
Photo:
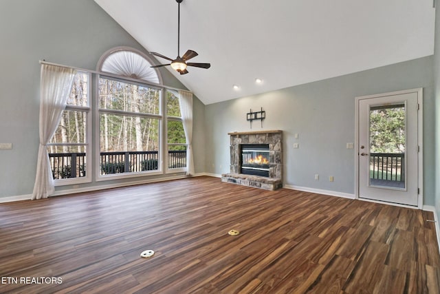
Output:
[[89,172],[90,74],[78,72],[50,143],[47,144],[56,185],[90,181]]

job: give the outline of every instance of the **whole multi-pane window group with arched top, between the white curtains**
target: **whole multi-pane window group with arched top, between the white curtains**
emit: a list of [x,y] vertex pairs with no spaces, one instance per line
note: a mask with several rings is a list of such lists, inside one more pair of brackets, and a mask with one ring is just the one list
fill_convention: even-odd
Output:
[[99,72],[77,70],[47,144],[55,185],[188,171],[186,108],[151,64],[142,52],[115,48],[101,57]]

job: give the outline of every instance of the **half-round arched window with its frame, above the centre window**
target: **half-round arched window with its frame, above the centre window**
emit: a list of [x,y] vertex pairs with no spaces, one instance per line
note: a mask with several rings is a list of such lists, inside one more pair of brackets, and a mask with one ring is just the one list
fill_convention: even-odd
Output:
[[162,76],[153,62],[140,51],[133,48],[113,48],[105,52],[98,61],[99,72],[109,72],[148,83],[162,84]]

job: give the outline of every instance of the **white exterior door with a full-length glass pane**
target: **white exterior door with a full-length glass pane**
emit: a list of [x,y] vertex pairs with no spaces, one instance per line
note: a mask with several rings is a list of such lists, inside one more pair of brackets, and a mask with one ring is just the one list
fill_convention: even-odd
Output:
[[421,205],[421,103],[421,89],[356,98],[359,198]]

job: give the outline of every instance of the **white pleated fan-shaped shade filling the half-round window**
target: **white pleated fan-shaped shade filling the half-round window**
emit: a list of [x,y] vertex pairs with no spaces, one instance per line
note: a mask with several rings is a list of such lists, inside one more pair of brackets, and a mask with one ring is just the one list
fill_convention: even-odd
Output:
[[155,69],[151,68],[151,64],[144,57],[135,52],[118,51],[110,54],[102,63],[101,70],[151,83],[159,83]]

